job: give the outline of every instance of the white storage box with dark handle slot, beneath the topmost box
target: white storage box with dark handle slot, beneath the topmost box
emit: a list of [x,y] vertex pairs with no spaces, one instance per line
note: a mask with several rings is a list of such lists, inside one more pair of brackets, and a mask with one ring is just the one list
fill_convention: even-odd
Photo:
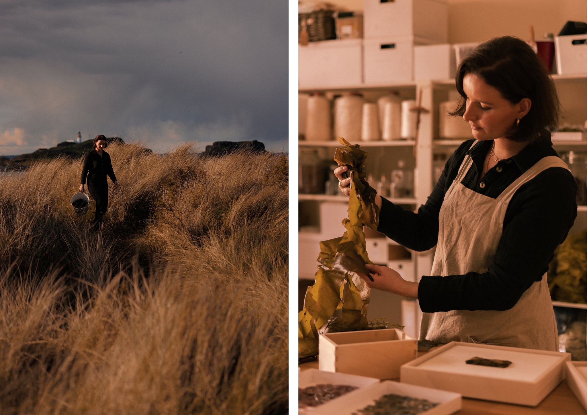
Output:
[[414,45],[429,43],[424,38],[363,39],[365,84],[389,84],[414,80]]

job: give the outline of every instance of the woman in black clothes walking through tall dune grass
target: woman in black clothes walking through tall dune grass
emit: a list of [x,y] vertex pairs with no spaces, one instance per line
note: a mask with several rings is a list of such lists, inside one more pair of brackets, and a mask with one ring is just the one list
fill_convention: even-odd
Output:
[[114,170],[112,170],[110,154],[104,151],[106,147],[108,147],[106,137],[102,134],[96,136],[92,143],[92,150],[86,154],[86,158],[83,161],[82,184],[79,186],[79,191],[83,193],[87,176],[87,190],[92,195],[93,200],[96,201],[96,216],[93,221],[95,227],[100,227],[100,224],[102,224],[102,217],[108,207],[108,182],[106,175],[110,176],[114,182],[114,186],[118,188],[118,181],[116,180],[116,176],[114,176]]

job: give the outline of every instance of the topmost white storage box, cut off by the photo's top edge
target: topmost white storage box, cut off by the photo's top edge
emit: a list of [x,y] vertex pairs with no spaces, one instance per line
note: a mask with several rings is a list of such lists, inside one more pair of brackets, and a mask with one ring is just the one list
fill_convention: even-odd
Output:
[[446,0],[365,0],[365,39],[420,36],[448,42]]

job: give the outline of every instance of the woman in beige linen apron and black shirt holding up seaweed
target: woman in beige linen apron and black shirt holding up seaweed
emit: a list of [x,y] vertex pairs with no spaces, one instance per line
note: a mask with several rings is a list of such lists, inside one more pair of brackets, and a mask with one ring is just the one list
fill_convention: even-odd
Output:
[[[558,351],[546,282],[555,248],[576,217],[576,183],[552,149],[555,86],[538,56],[512,36],[491,39],[461,62],[456,86],[474,140],[448,159],[417,213],[377,195],[379,227],[416,251],[436,245],[430,276],[405,281],[366,264],[367,285],[419,299],[420,339]],[[346,166],[335,170],[349,194]]]

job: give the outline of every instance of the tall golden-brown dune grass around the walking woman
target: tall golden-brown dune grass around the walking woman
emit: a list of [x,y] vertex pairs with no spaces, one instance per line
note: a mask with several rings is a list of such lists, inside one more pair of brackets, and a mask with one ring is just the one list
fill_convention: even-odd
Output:
[[0,413],[286,413],[279,156],[107,151],[97,232],[81,160],[0,175]]

